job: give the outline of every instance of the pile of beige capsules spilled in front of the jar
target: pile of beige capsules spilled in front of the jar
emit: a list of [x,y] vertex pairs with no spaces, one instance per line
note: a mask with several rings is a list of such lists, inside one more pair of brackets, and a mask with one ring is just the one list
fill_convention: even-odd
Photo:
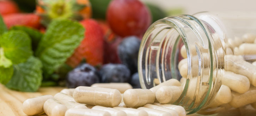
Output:
[[155,103],[170,103],[179,97],[161,93],[161,88],[170,86],[175,90],[172,92],[181,94],[181,83],[176,79],[151,89],[132,89],[128,83],[96,83],[63,89],[55,96],[26,99],[22,109],[30,116],[43,112],[48,116],[185,116],[185,109],[179,105]]

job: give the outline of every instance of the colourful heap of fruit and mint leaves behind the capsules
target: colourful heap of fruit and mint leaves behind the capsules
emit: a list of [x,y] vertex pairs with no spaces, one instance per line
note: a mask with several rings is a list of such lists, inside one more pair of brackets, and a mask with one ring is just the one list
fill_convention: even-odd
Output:
[[140,0],[0,0],[0,82],[30,92],[111,82],[141,88],[145,31],[182,13]]

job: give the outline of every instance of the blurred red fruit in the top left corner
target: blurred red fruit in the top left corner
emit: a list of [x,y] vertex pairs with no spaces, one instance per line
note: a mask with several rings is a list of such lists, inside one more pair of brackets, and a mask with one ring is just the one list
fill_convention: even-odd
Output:
[[0,14],[6,15],[6,14],[13,14],[18,13],[19,8],[15,4],[15,2],[6,0],[6,1],[0,1]]

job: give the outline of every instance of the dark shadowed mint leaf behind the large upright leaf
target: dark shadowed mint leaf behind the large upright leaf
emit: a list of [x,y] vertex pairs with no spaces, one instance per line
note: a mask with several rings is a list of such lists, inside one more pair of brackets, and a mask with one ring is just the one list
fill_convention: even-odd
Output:
[[26,32],[32,40],[32,50],[36,50],[39,41],[43,37],[43,34],[38,30],[26,26],[13,26],[10,30],[20,30]]

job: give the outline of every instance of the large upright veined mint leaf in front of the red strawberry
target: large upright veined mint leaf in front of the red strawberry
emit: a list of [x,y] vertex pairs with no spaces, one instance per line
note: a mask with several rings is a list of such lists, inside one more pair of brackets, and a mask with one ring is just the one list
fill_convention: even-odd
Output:
[[54,20],[48,26],[36,50],[43,63],[44,78],[48,78],[65,63],[84,38],[84,28],[71,20]]

